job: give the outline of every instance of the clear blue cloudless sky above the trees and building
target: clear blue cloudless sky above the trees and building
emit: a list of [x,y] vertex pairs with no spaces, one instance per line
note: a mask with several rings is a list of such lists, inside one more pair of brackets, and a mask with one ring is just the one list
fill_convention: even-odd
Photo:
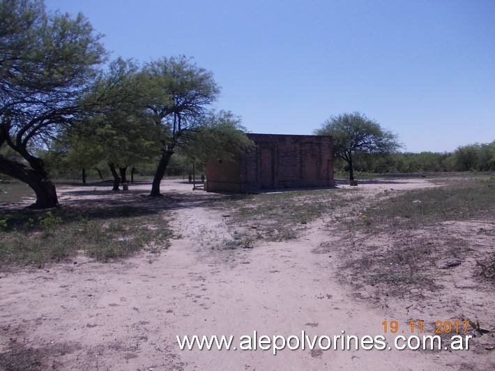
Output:
[[193,56],[250,132],[312,134],[359,111],[405,151],[495,139],[494,0],[45,0],[112,57]]

